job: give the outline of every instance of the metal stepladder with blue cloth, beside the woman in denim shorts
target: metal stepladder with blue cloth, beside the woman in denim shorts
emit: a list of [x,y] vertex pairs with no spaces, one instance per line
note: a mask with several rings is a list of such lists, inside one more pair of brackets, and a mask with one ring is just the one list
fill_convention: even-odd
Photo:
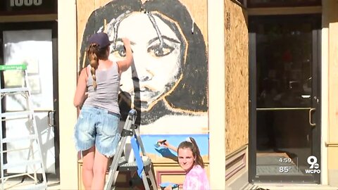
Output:
[[[116,179],[119,172],[135,172],[142,179],[144,189],[157,189],[154,172],[152,171],[151,158],[146,156],[142,138],[139,134],[139,127],[135,125],[137,111],[132,109],[127,115],[125,125],[121,132],[121,138],[116,148],[115,156],[109,167],[108,176],[106,178],[105,190],[118,189]],[[131,153],[133,156],[125,154],[127,140],[131,145]]]

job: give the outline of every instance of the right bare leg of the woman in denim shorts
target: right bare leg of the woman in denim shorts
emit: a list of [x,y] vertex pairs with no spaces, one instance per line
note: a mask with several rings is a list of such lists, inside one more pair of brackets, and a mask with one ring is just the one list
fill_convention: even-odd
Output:
[[96,149],[93,167],[94,177],[92,181],[92,189],[95,190],[104,189],[108,160],[109,158],[99,153],[99,151],[97,151]]

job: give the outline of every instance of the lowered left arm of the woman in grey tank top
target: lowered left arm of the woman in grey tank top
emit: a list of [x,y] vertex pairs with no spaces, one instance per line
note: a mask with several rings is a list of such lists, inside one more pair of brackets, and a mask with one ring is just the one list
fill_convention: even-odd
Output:
[[77,87],[75,91],[73,104],[76,108],[80,108],[85,99],[87,91],[87,68],[83,68],[80,77],[77,80]]

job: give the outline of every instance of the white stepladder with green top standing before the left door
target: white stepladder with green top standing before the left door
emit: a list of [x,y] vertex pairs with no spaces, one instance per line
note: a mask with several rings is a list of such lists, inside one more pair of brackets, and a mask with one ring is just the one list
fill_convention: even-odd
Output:
[[[27,65],[0,65],[0,73],[0,187],[46,189],[41,138],[33,110]],[[11,101],[16,105],[9,105],[9,99],[17,100]],[[12,132],[8,133],[10,128]]]

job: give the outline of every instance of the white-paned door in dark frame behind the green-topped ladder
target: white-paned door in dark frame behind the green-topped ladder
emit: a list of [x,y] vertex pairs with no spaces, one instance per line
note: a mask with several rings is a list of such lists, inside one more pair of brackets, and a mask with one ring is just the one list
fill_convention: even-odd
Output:
[[[0,23],[0,64],[27,64],[28,80],[30,82],[33,108],[39,139],[42,146],[42,157],[46,177],[58,181],[59,177],[59,131],[58,131],[58,64],[57,64],[57,23]],[[10,86],[15,82],[15,76],[4,76],[1,87]],[[9,97],[3,105],[3,110],[18,110],[20,101]],[[8,120],[3,124],[4,136],[17,132],[26,133],[25,121]],[[28,134],[28,132],[27,132]],[[7,146],[24,146],[21,141]],[[6,153],[5,160],[17,160],[25,156],[24,152]],[[15,167],[6,170],[8,173],[22,173],[25,167]],[[6,174],[5,174],[6,175]]]

